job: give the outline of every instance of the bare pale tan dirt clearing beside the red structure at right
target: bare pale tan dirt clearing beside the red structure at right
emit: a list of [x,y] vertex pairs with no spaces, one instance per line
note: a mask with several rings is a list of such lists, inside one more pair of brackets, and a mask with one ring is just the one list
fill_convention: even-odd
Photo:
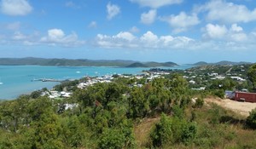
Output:
[[251,102],[239,102],[236,100],[230,99],[216,99],[216,98],[207,98],[205,99],[207,103],[216,103],[218,106],[222,106],[226,109],[230,109],[233,112],[237,112],[242,116],[249,116],[249,112],[251,112],[254,108],[256,108],[256,103]]

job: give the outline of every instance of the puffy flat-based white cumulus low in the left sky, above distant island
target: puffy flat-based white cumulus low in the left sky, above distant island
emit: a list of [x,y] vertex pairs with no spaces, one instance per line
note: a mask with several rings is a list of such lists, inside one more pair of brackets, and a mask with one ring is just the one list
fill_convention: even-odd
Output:
[[50,29],[48,36],[41,37],[39,42],[63,47],[77,47],[84,44],[84,41],[79,41],[79,37],[76,33],[73,32],[70,35],[65,35],[61,29]]

